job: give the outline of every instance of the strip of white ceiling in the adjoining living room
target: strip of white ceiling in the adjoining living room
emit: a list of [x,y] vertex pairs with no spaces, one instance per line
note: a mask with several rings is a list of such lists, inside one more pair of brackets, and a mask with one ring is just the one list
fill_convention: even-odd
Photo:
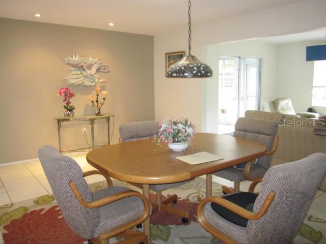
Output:
[[261,38],[260,40],[274,44],[285,44],[301,41],[326,41],[326,28],[316,29],[314,31],[294,33],[283,36]]

